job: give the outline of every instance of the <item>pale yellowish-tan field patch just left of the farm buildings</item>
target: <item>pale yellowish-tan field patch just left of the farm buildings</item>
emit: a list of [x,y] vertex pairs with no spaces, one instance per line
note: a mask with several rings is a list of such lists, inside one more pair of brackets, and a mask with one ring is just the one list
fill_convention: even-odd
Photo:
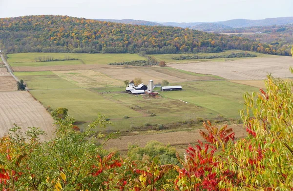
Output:
[[124,85],[122,81],[93,70],[56,71],[54,73],[83,88]]

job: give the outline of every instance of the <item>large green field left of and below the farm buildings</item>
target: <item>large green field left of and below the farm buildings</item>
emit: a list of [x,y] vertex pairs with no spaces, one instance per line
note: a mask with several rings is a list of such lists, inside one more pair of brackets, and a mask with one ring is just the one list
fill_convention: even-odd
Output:
[[138,112],[86,89],[35,90],[31,94],[44,106],[51,106],[53,109],[67,108],[69,115],[78,121],[93,120],[99,112],[112,119],[122,119],[124,115],[141,116]]

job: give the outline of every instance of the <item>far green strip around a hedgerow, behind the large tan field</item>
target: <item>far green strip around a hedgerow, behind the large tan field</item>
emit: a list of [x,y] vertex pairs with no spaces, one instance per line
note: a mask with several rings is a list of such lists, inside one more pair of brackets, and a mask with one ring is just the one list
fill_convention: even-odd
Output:
[[[166,54],[166,55],[149,55],[155,57],[157,60],[164,60],[167,63],[183,63],[183,62],[202,62],[202,61],[225,61],[226,59],[249,59],[244,58],[214,58],[214,59],[189,59],[189,60],[173,60],[171,57],[180,57],[180,56],[210,56],[210,55],[230,55],[232,53],[244,53],[248,52],[250,54],[256,55],[257,57],[273,57],[272,55],[265,55],[260,53],[255,53],[251,51],[242,51],[242,50],[228,50],[220,53],[198,53],[198,54]],[[255,58],[255,57],[254,57]]]

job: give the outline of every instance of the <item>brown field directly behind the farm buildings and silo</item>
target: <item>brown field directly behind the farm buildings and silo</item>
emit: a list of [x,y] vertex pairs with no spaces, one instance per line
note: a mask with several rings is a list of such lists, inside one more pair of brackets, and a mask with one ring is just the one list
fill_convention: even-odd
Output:
[[152,79],[154,83],[162,82],[164,79],[171,83],[212,79],[210,76],[195,76],[161,67],[118,68],[115,70],[103,69],[96,71],[119,80],[141,77],[144,83],[147,83],[150,79]]

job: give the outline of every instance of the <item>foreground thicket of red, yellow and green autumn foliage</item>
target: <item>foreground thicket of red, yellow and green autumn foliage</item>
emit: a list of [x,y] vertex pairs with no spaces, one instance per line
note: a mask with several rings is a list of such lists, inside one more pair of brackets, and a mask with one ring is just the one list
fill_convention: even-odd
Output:
[[240,114],[247,137],[234,140],[227,125],[204,122],[207,131],[200,134],[206,143],[189,145],[184,158],[155,142],[131,146],[128,157],[109,153],[103,144],[115,134],[94,131],[110,124],[104,115],[80,132],[59,108],[52,112],[57,125],[52,140],[41,142],[44,133],[37,128],[22,135],[18,126],[0,139],[0,186],[11,191],[292,190],[292,88],[292,81],[268,76],[267,92],[244,96]]

